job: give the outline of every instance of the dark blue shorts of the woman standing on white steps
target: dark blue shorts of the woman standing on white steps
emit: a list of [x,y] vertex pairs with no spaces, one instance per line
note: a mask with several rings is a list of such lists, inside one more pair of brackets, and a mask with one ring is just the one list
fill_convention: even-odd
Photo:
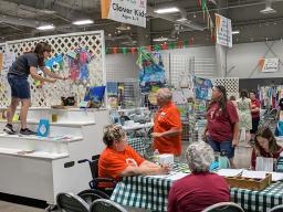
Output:
[[13,98],[31,98],[30,84],[25,76],[8,74],[8,83]]

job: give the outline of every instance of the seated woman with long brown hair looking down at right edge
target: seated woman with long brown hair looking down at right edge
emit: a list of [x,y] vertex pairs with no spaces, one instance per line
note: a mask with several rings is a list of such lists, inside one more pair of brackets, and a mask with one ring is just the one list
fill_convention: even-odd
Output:
[[281,151],[283,151],[283,148],[277,145],[276,139],[269,127],[258,129],[254,137],[251,169],[255,170],[258,157],[277,159]]

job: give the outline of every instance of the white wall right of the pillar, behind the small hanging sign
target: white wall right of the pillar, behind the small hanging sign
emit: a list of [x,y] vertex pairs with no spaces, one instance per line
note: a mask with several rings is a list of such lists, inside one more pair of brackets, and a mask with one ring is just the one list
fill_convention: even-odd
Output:
[[[273,44],[273,45],[272,45]],[[271,50],[269,46],[272,45]],[[261,73],[258,64],[260,59],[279,57],[283,59],[283,42],[256,42],[233,45],[228,51],[228,77],[240,78],[271,78],[282,77],[282,63],[279,65],[279,72]],[[229,72],[231,70],[231,72]]]

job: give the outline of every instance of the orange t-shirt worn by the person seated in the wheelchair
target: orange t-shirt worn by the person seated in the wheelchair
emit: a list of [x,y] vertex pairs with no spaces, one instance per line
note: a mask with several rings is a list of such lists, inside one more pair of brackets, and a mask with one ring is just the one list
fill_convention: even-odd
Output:
[[124,151],[115,151],[106,148],[98,161],[98,177],[119,180],[119,173],[128,166],[138,167],[145,161],[132,147],[127,146]]

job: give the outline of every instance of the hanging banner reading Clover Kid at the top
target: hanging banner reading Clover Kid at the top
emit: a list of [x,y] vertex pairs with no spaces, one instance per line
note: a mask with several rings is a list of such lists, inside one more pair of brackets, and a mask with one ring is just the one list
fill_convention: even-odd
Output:
[[146,28],[147,0],[101,0],[102,18]]

